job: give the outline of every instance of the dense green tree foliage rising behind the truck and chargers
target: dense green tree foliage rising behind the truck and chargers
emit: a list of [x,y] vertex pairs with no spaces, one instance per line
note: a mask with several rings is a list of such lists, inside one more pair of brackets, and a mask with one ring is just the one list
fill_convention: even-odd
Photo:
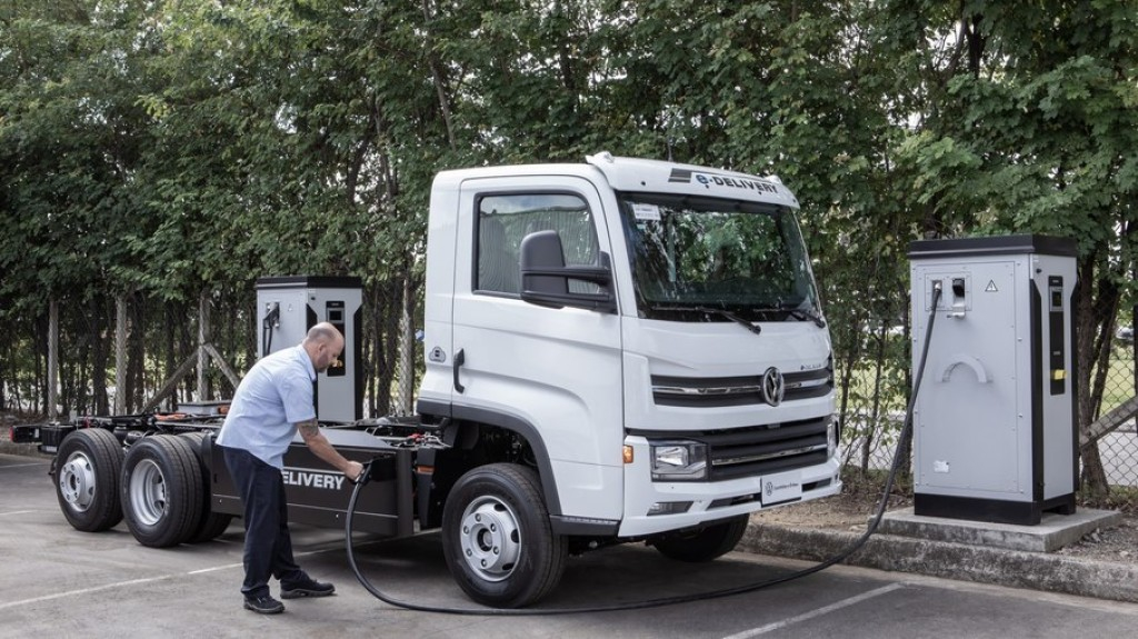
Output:
[[[881,413],[909,356],[867,327],[906,321],[914,239],[1072,236],[1085,280],[1110,284],[1081,289],[1082,333],[1113,327],[1092,308],[1132,304],[1133,16],[1132,0],[8,0],[2,313],[274,274],[382,282],[422,268],[439,169],[607,149],[777,173],[802,202],[842,412]],[[1088,338],[1080,360],[1095,352]]]

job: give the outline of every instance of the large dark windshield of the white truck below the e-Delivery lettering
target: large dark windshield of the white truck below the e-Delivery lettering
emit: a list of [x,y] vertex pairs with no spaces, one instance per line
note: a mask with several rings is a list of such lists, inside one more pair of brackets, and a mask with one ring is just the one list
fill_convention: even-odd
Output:
[[816,317],[814,276],[789,207],[624,193],[620,211],[641,317],[778,321]]

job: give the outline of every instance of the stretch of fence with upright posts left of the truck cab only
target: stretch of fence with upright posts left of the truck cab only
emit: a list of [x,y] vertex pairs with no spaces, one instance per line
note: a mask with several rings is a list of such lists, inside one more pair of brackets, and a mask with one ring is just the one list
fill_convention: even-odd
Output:
[[[422,372],[407,335],[421,323],[417,282],[369,283],[360,317],[364,414],[406,414]],[[255,283],[198,299],[81,291],[7,309],[0,413],[53,420],[173,409],[232,397],[257,356]],[[401,358],[411,357],[411,373]],[[55,384],[48,380],[56,380]]]

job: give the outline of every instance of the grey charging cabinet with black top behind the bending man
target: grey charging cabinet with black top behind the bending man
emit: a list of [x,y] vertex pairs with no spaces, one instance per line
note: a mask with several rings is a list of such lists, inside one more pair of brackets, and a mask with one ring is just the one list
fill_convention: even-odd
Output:
[[286,276],[257,280],[258,356],[304,341],[308,329],[329,322],[344,335],[344,352],[328,371],[316,374],[313,398],[316,417],[354,422],[363,417],[360,309],[363,282],[358,277]]

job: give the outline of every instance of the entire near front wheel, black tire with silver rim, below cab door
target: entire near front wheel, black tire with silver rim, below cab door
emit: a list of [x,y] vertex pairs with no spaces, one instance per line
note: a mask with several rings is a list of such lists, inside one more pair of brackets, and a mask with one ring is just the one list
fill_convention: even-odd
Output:
[[568,541],[553,534],[541,481],[514,464],[477,467],[459,479],[443,507],[443,555],[475,601],[516,608],[561,580]]

